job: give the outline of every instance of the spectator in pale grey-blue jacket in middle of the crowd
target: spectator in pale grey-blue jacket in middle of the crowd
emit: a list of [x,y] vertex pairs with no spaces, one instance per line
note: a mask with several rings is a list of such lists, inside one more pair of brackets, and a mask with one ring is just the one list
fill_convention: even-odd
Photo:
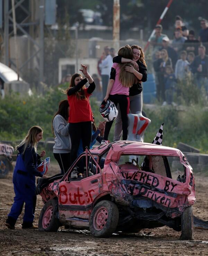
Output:
[[189,69],[189,62],[187,61],[187,52],[181,51],[181,59],[177,60],[175,65],[175,78],[179,81],[185,79]]

